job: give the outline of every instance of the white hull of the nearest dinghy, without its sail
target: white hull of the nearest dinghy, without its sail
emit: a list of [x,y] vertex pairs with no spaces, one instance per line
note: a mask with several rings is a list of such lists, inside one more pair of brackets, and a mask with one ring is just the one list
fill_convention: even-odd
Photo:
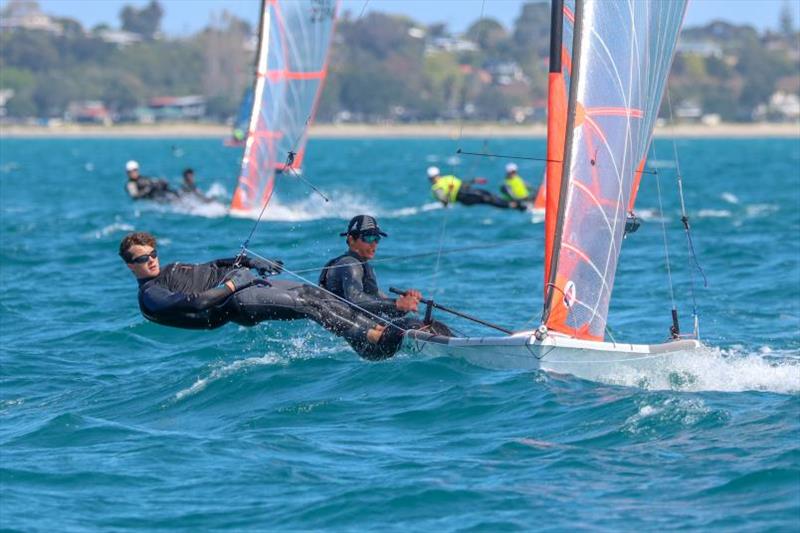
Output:
[[410,331],[403,341],[406,352],[461,357],[483,367],[546,370],[589,380],[605,380],[623,372],[651,371],[672,366],[700,348],[696,340],[663,344],[622,344],[573,339],[550,333],[537,340],[533,331],[507,337],[441,337]]

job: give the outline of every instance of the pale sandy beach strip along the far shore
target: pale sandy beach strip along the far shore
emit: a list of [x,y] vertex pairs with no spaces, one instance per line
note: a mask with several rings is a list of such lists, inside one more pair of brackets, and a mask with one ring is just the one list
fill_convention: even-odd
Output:
[[[0,126],[2,139],[29,138],[219,138],[230,135],[230,127],[207,123],[125,124],[95,126],[66,124],[61,126]],[[314,124],[309,135],[315,139],[356,138],[437,138],[459,137],[544,138],[544,124]],[[656,127],[656,137],[676,138],[798,138],[800,123],[679,124]]]

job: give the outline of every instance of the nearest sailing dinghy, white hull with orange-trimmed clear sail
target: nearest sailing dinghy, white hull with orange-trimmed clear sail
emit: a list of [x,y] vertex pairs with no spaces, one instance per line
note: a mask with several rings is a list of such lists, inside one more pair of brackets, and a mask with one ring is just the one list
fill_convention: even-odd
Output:
[[686,1],[553,1],[541,325],[494,337],[409,331],[406,351],[602,379],[669,364],[701,346],[680,338],[674,309],[669,342],[605,340],[626,221]]

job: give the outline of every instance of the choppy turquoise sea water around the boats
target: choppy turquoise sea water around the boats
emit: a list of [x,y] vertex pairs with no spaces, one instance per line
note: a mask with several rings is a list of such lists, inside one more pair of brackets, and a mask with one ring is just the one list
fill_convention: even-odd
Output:
[[[223,204],[132,203],[123,166],[230,198],[218,140],[0,143],[0,529],[792,531],[800,527],[800,141],[676,143],[708,348],[652,376],[582,381],[460,359],[360,360],[313,323],[210,332],[148,323],[116,255],[133,230],[162,264],[235,254],[253,221]],[[381,284],[417,287],[499,324],[536,325],[543,225],[440,209],[425,168],[481,175],[544,141],[312,140],[250,243],[316,279],[346,220],[390,237]],[[691,269],[671,141],[642,187],[609,326],[658,342],[670,325],[662,221],[682,326]],[[538,182],[541,163],[518,159]],[[443,253],[439,255],[437,252]],[[457,250],[457,251],[453,251]],[[411,254],[429,254],[408,258]],[[480,326],[439,318],[467,334]]]

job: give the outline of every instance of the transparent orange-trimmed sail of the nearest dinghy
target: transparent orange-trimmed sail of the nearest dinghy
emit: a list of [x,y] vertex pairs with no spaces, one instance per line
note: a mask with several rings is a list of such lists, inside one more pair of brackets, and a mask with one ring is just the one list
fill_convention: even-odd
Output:
[[548,159],[563,161],[548,163],[543,321],[551,330],[605,337],[625,220],[685,8],[686,0],[575,0],[563,159],[561,132],[548,131]]

